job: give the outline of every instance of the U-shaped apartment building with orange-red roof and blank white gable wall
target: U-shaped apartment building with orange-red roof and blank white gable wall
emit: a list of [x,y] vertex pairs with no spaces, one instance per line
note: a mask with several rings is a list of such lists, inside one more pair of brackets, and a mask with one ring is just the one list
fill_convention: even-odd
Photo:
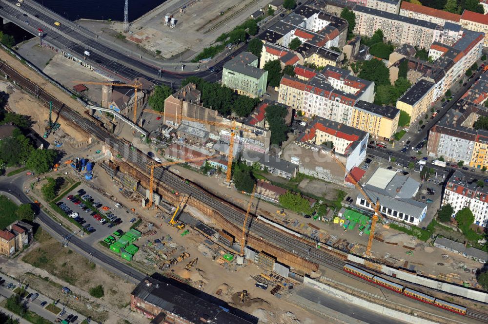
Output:
[[334,152],[344,161],[346,170],[350,171],[366,158],[368,139],[367,132],[316,116],[305,132],[295,139],[295,144],[313,151],[327,152],[334,148]]

